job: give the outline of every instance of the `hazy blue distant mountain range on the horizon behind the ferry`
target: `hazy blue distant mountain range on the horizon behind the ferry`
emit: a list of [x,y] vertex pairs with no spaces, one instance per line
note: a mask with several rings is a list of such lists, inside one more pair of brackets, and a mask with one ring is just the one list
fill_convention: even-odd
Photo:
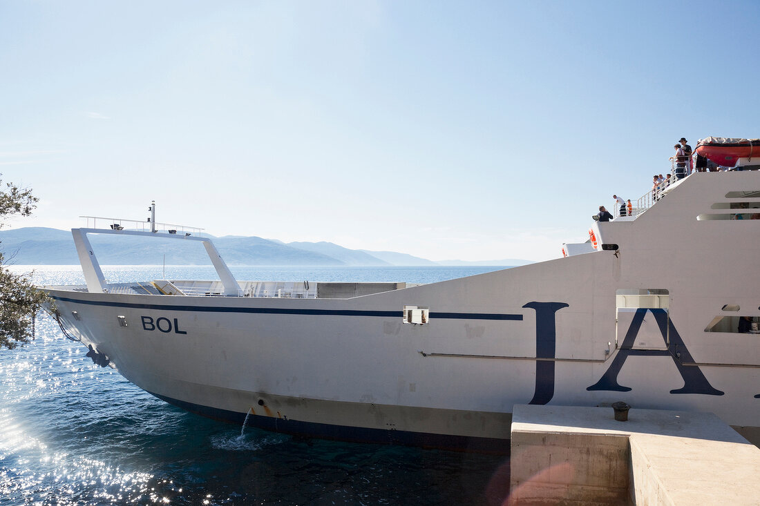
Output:
[[[208,236],[208,235],[206,235]],[[207,265],[198,242],[140,236],[87,236],[103,265]],[[211,237],[220,255],[230,265],[503,265],[532,264],[508,258],[498,261],[430,261],[395,251],[349,249],[332,242],[289,242],[261,237]],[[17,265],[79,264],[71,232],[44,227],[0,230],[0,251],[5,261]],[[165,255],[165,256],[164,256]]]

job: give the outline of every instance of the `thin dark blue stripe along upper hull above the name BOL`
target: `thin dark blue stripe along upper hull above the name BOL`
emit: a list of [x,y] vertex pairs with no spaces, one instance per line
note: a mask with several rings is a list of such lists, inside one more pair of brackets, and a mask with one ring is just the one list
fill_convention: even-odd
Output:
[[[166,305],[166,304],[138,304],[135,302],[107,302],[82,299],[70,299],[68,297],[52,296],[53,299],[62,302],[74,302],[76,304],[103,305],[114,308],[133,309],[156,309],[164,311],[194,311],[211,313],[249,313],[261,315],[320,315],[320,316],[380,316],[383,318],[401,318],[401,311],[370,311],[355,309],[305,309],[305,308],[230,308],[214,307],[207,305]],[[508,315],[502,313],[447,313],[431,312],[430,318],[448,318],[458,320],[515,320],[521,321],[522,315]]]

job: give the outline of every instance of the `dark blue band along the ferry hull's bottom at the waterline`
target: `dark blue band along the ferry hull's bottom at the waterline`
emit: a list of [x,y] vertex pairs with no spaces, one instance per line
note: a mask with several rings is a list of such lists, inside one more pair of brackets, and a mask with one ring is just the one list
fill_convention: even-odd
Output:
[[[206,416],[207,418],[242,425],[245,413],[220,410],[201,404],[188,403],[184,400],[172,399],[163,395],[151,395],[165,400],[169,404],[179,406],[190,413]],[[335,441],[350,441],[354,443],[404,444],[425,448],[440,448],[451,451],[471,451],[486,454],[509,454],[509,440],[498,438],[469,438],[467,436],[427,434],[425,432],[387,431],[382,429],[367,429],[365,427],[350,427],[348,425],[330,425],[326,423],[300,422],[284,420],[272,416],[251,415],[248,426],[271,432],[305,436],[308,438],[332,439]]]

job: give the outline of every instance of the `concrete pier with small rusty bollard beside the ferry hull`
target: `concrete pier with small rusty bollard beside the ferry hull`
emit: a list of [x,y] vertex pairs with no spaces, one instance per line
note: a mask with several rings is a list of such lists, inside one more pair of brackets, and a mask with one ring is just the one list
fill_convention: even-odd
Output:
[[515,406],[510,504],[760,504],[760,449],[712,413]]

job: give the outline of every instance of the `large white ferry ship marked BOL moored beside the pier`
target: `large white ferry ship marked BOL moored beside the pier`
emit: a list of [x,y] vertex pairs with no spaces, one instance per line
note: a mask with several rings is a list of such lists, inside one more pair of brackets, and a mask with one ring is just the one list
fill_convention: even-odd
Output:
[[[564,258],[439,283],[236,280],[210,239],[154,215],[73,229],[87,284],[44,288],[93,361],[228,422],[496,451],[515,404],[624,401],[712,412],[757,444],[757,163],[673,178]],[[109,283],[93,234],[201,242],[219,280]]]

